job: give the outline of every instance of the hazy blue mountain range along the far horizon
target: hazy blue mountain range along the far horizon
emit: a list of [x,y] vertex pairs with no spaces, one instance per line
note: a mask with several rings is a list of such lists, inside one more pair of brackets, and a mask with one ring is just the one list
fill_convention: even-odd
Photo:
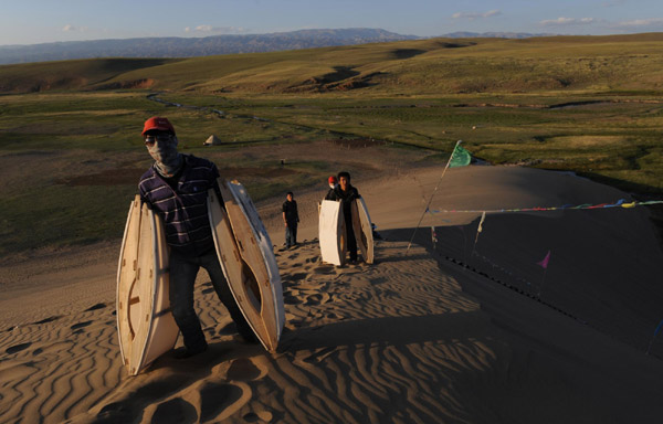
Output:
[[[444,38],[522,39],[550,34],[454,32]],[[193,57],[232,53],[262,53],[376,42],[418,40],[380,29],[301,30],[271,34],[214,35],[206,38],[147,38],[69,41],[0,46],[0,64],[64,61],[93,57]]]

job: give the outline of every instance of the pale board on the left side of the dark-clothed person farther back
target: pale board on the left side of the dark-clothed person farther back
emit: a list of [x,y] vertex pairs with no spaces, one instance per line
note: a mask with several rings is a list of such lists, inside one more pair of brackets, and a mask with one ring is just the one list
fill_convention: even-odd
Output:
[[323,200],[318,221],[318,241],[323,262],[343,266],[345,264],[345,225],[340,202]]

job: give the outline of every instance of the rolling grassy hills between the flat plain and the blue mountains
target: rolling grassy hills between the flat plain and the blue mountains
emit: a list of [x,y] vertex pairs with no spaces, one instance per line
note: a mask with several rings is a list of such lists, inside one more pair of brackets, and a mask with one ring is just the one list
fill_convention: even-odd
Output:
[[0,66],[0,91],[657,93],[663,89],[662,68],[663,33],[526,40],[431,39],[186,60],[9,65]]

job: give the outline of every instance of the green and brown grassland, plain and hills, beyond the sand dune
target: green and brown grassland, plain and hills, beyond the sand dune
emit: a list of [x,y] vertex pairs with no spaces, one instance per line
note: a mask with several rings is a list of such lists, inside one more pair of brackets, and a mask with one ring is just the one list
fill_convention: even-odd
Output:
[[[660,195],[662,47],[660,33],[435,39],[0,66],[0,255],[122,236],[150,165],[141,123],[154,115],[175,123],[183,152],[230,168],[255,200],[340,167],[388,172],[361,167],[362,146],[402,166],[443,166],[459,139],[492,163]],[[203,148],[211,134],[223,145]],[[328,141],[356,153],[311,153]]]

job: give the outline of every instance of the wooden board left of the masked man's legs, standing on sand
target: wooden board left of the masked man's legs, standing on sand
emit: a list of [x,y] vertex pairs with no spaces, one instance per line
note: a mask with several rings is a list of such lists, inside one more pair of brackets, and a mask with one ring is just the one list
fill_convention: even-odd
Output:
[[168,245],[161,219],[136,195],[117,266],[117,331],[124,364],[136,375],[175,347]]

